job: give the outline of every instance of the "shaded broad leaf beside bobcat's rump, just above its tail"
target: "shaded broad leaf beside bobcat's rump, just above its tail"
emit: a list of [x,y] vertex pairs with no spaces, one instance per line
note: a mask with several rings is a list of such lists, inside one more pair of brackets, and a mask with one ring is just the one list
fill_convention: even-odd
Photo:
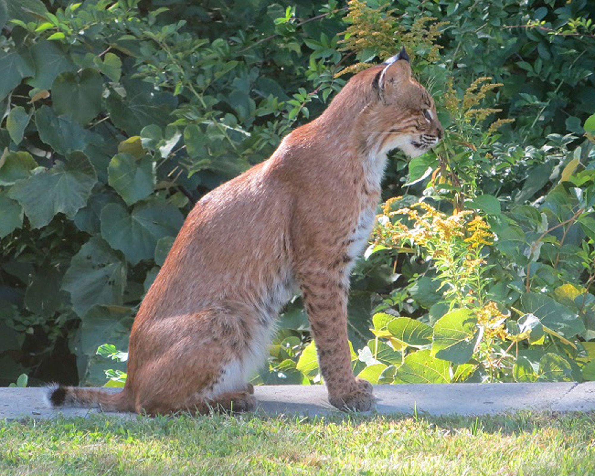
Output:
[[96,355],[97,348],[113,343],[118,349],[128,348],[132,327],[132,309],[123,306],[93,306],[83,316],[79,331],[80,346],[77,347],[77,365],[82,383],[101,386],[105,383],[105,369],[126,370],[126,364],[107,361]]

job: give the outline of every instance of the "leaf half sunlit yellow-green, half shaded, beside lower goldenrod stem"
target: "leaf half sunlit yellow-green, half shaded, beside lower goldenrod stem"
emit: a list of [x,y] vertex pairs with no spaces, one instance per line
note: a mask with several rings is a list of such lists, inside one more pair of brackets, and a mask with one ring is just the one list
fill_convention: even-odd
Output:
[[479,338],[477,318],[469,309],[447,312],[434,324],[432,355],[454,364],[466,364]]

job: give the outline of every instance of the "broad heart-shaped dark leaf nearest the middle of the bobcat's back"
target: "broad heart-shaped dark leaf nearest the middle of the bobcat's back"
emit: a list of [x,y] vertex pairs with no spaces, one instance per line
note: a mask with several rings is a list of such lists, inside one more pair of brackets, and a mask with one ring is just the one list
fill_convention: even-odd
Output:
[[180,211],[167,202],[141,202],[131,213],[109,203],[101,211],[101,236],[136,265],[142,259],[154,258],[157,242],[176,236],[183,220]]

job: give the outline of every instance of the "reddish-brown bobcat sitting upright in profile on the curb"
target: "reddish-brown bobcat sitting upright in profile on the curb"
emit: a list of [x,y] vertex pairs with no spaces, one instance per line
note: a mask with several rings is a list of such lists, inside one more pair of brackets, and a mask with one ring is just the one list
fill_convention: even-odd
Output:
[[248,378],[300,290],[330,403],[371,409],[372,386],[350,363],[349,274],[371,232],[387,152],[417,156],[442,135],[404,48],[353,76],[271,158],[196,203],[134,320],[124,390],[54,386],[51,405],[249,411]]

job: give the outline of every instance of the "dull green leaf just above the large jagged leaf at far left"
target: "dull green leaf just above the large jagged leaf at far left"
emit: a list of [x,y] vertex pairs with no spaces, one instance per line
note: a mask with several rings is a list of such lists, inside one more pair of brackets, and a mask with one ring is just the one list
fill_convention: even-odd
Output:
[[73,118],[54,114],[48,106],[42,106],[35,112],[35,124],[39,138],[54,151],[67,155],[73,151],[84,151],[89,142],[89,132]]

